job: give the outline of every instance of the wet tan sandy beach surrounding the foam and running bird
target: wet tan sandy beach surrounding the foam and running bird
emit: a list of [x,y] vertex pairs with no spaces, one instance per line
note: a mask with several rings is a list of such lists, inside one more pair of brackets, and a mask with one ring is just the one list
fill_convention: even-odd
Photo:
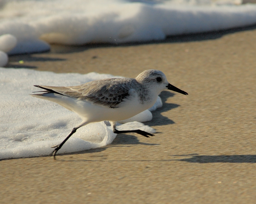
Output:
[[0,203],[255,203],[255,42],[251,26],[11,56],[7,68],[56,73],[136,77],[159,69],[189,95],[161,93],[163,107],[145,123],[154,137],[120,134],[56,161],[0,161]]

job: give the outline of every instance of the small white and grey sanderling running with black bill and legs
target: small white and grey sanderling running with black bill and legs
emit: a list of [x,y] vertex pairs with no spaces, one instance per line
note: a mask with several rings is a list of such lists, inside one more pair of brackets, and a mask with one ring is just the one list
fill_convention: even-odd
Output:
[[83,120],[73,128],[66,139],[55,148],[52,155],[73,135],[76,130],[91,122],[108,120],[114,133],[138,133],[145,137],[153,136],[142,130],[117,130],[116,121],[126,120],[152,107],[161,91],[166,89],[188,95],[187,92],[169,84],[163,72],[149,69],[133,78],[100,79],[78,86],[41,86],[40,94],[32,94],[77,113]]

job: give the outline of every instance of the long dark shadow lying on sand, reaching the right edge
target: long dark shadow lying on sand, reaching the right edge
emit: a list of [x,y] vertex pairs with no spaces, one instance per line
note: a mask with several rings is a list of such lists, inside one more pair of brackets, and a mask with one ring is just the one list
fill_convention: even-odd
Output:
[[171,155],[171,156],[189,157],[189,158],[173,159],[173,160],[190,162],[190,163],[256,163],[256,155],[211,156],[211,155],[188,154],[188,155]]

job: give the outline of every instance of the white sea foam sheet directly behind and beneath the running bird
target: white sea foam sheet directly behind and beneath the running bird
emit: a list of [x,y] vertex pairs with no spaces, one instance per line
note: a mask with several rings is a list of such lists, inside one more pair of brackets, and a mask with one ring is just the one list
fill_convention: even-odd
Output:
[[[71,86],[92,80],[113,77],[108,74],[56,74],[29,69],[0,68],[0,159],[48,155],[50,146],[59,144],[81,119],[71,111],[50,101],[31,97],[38,91],[35,84]],[[159,106],[158,99],[158,106]],[[137,116],[148,120],[147,110]],[[131,120],[132,121],[132,120]],[[130,125],[129,125],[130,124]],[[139,122],[118,126],[140,128],[150,133],[154,129]],[[79,128],[58,153],[76,152],[111,143],[116,134],[104,122],[91,123]]]

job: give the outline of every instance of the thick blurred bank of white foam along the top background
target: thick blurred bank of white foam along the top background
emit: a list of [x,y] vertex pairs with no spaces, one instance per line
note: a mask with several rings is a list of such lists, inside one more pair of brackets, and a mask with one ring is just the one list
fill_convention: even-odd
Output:
[[12,34],[18,39],[10,54],[49,50],[47,43],[161,40],[168,35],[256,23],[256,5],[241,3],[242,0],[10,0],[2,2],[0,35]]

